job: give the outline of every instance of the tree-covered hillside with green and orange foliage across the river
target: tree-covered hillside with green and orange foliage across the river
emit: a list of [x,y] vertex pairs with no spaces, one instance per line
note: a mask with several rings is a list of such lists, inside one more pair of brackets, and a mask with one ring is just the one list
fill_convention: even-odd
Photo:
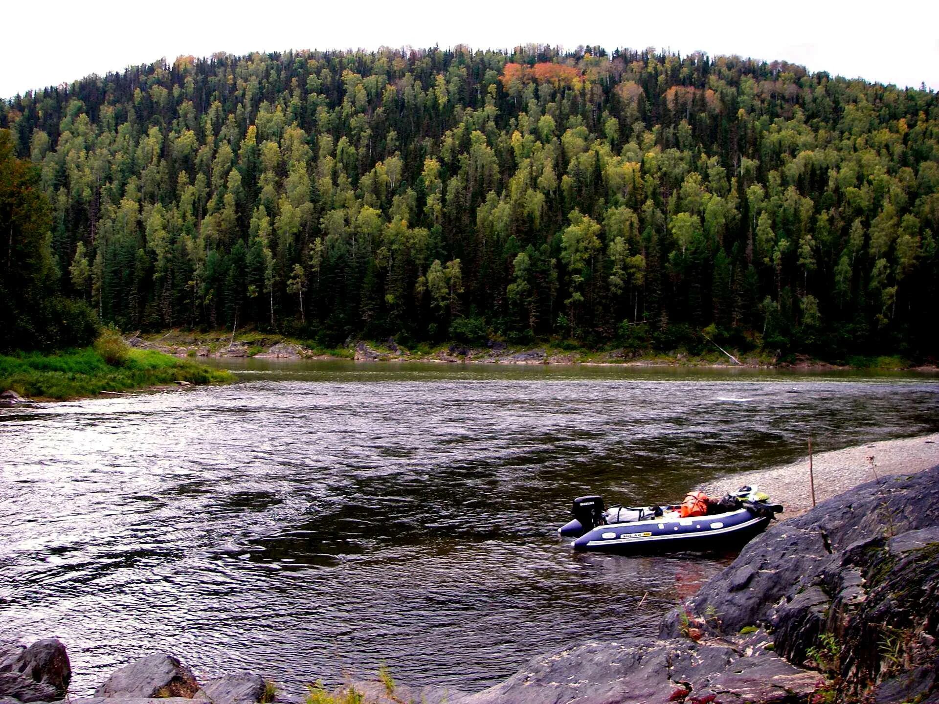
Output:
[[54,286],[122,329],[939,349],[931,91],[651,50],[218,54],[0,127]]

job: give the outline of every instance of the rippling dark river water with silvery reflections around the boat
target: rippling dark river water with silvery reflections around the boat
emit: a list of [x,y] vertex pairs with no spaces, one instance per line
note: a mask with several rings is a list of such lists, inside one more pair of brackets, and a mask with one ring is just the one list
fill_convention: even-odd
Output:
[[239,383],[0,409],[0,639],[60,637],[73,694],[156,650],[288,691],[382,663],[479,689],[654,630],[733,557],[574,554],[572,497],[681,498],[809,429],[939,430],[934,376],[224,364]]

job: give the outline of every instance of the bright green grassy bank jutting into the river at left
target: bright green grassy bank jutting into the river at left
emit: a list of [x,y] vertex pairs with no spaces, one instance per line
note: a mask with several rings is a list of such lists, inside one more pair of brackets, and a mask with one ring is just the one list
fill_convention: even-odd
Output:
[[176,381],[214,384],[231,381],[225,371],[153,350],[100,349],[100,345],[44,354],[0,356],[0,390],[56,400],[97,396],[101,391],[146,389]]

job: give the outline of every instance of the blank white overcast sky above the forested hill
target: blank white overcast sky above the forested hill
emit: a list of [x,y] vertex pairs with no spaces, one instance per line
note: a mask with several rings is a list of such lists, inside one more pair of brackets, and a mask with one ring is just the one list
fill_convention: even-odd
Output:
[[528,42],[785,59],[939,89],[939,2],[17,2],[0,13],[0,96],[161,56]]

